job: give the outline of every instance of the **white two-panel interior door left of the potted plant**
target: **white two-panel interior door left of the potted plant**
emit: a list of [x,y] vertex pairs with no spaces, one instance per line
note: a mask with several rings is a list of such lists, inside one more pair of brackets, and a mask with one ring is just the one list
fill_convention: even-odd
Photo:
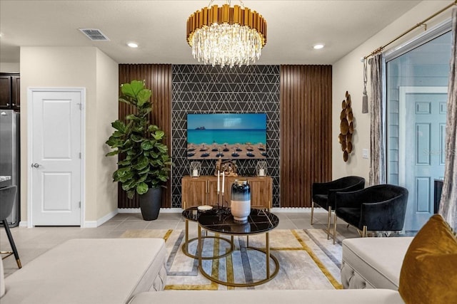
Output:
[[30,89],[30,95],[31,222],[81,226],[84,89]]

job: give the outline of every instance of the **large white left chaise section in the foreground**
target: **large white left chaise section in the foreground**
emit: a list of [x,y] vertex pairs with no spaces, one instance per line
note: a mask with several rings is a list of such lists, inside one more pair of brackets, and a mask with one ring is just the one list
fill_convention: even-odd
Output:
[[163,290],[163,239],[72,239],[5,279],[1,304],[126,303]]

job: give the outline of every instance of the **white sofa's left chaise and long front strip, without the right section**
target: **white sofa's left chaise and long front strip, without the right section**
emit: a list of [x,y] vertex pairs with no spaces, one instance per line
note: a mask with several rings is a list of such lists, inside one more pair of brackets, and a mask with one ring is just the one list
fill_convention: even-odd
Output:
[[2,280],[0,303],[403,303],[388,289],[161,291],[165,258],[163,239],[74,239]]

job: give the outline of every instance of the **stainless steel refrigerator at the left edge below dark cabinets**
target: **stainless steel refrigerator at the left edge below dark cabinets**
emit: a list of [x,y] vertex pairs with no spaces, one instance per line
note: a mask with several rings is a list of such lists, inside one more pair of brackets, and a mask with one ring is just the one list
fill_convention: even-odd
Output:
[[18,226],[21,218],[19,139],[19,112],[0,110],[0,188],[17,186],[13,211],[7,219],[10,227]]

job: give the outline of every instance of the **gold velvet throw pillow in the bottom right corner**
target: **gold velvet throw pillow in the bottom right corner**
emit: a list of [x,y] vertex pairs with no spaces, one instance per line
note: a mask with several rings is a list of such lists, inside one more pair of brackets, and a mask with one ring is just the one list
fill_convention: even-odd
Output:
[[457,238],[441,215],[431,216],[411,242],[399,286],[407,304],[457,303]]

